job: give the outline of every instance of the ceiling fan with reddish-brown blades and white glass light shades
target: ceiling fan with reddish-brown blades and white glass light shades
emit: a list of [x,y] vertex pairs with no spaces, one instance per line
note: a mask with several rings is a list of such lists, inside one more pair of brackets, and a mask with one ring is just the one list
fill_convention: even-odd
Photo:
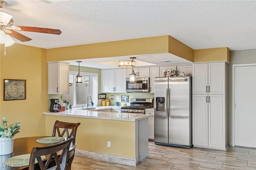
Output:
[[[4,0],[0,0],[0,8],[3,8],[6,2]],[[32,40],[27,36],[24,36],[16,31],[28,31],[28,32],[39,32],[46,34],[56,34],[60,35],[62,32],[58,29],[51,28],[39,28],[39,27],[28,27],[28,26],[15,26],[13,25],[14,21],[12,19],[12,15],[6,12],[0,11],[0,32],[6,35],[12,36],[21,42],[28,42]]]

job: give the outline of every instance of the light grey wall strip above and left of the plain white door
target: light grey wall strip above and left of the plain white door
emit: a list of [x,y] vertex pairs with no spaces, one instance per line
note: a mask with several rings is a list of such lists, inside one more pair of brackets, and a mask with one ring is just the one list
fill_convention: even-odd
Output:
[[[230,51],[228,65],[228,145],[232,145],[232,65],[256,63],[256,49]],[[256,75],[256,73],[252,74]]]

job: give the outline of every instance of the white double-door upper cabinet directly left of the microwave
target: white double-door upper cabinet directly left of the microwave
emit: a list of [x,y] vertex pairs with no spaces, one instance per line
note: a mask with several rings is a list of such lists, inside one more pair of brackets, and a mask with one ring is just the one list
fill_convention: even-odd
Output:
[[102,93],[126,93],[126,69],[101,70]]

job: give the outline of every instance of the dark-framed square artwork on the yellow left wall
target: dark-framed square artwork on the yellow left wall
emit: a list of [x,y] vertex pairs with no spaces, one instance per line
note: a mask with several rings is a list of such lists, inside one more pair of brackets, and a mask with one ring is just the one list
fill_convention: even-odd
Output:
[[26,80],[4,79],[4,100],[26,99]]

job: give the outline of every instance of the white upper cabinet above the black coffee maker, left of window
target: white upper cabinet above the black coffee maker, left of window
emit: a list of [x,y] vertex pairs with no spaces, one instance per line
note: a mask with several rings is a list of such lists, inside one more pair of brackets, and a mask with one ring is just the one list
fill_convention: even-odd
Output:
[[48,63],[48,94],[69,93],[69,63]]

